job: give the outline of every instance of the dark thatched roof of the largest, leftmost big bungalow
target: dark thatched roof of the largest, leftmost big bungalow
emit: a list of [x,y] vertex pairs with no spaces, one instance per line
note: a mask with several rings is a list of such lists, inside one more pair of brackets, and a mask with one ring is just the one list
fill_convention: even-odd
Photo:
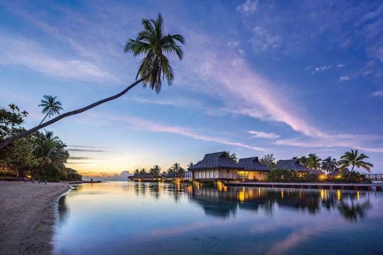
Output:
[[235,164],[228,158],[226,158],[225,151],[205,154],[203,160],[190,166],[188,170],[199,170],[199,169],[215,169],[215,168],[224,168],[224,169],[238,169],[242,170],[244,167]]

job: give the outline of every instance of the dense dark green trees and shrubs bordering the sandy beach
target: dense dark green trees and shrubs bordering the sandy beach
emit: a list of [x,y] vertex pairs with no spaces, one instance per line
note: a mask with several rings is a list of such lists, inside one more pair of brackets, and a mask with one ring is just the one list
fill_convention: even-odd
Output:
[[[0,108],[0,142],[23,132],[28,112],[15,105]],[[0,163],[7,164],[17,177],[30,175],[35,179],[59,181],[80,179],[76,170],[65,168],[69,152],[66,144],[51,131],[34,132],[0,150]],[[68,175],[69,173],[69,175]]]

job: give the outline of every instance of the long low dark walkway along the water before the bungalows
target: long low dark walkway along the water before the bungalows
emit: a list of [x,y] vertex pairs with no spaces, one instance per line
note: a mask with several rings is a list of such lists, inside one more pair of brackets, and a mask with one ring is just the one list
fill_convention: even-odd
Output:
[[383,184],[378,183],[225,183],[226,186],[271,187],[271,188],[301,188],[301,189],[352,189],[352,190],[382,190]]

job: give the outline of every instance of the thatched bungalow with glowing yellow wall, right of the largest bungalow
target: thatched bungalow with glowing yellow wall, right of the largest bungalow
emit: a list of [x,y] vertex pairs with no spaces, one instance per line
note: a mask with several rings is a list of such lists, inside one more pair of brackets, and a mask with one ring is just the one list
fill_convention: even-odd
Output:
[[244,171],[238,171],[238,179],[263,180],[270,172],[269,167],[259,163],[258,157],[240,159],[238,165],[244,167]]

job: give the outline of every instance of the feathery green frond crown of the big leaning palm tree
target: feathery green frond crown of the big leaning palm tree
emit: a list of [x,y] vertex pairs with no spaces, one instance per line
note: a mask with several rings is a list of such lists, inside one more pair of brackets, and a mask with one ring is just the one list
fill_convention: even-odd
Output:
[[156,20],[145,19],[142,21],[143,30],[138,32],[137,38],[128,39],[125,44],[125,53],[133,53],[133,56],[145,54],[140,62],[136,80],[147,77],[142,86],[149,86],[156,93],[161,91],[162,79],[166,79],[169,86],[174,81],[173,68],[165,55],[176,54],[180,60],[183,57],[182,46],[185,40],[182,35],[170,35],[164,33],[163,18],[158,14]]

